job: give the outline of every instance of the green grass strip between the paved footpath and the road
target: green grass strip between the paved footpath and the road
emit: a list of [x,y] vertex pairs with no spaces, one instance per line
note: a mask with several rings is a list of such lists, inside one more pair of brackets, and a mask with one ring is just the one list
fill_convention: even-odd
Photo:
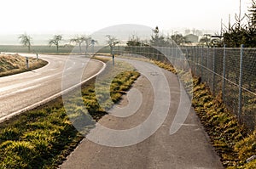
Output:
[[[113,70],[119,72],[110,87],[114,103],[139,76],[131,65],[116,62],[115,67],[127,69]],[[106,68],[112,69],[109,65]],[[95,81],[96,78],[91,79],[82,85],[81,90],[74,89],[71,92],[81,92],[84,100],[84,105],[73,104],[71,109],[76,113],[84,110],[85,106],[88,111],[84,113],[89,113],[93,121],[98,121],[106,112],[97,103]],[[71,98],[74,103],[76,99]],[[83,138],[69,121],[60,97],[0,124],[0,168],[56,168]]]

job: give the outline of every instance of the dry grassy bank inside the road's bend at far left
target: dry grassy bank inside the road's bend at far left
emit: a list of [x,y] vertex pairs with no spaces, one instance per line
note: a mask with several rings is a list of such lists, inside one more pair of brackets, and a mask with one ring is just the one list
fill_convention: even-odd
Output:
[[42,59],[29,58],[28,60],[29,68],[26,69],[25,57],[18,54],[0,54],[0,77],[35,70],[48,64]]

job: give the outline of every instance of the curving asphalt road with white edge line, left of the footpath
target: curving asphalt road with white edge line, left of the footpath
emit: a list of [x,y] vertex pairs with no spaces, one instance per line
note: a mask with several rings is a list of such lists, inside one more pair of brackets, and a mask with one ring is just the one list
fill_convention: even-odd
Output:
[[[35,57],[35,54],[20,55]],[[40,54],[39,58],[49,64],[38,70],[0,77],[0,121],[60,96],[63,76],[69,78],[66,87],[72,87],[73,79],[80,78],[82,82],[104,68],[102,62],[78,55]],[[80,72],[82,77],[77,76]]]

